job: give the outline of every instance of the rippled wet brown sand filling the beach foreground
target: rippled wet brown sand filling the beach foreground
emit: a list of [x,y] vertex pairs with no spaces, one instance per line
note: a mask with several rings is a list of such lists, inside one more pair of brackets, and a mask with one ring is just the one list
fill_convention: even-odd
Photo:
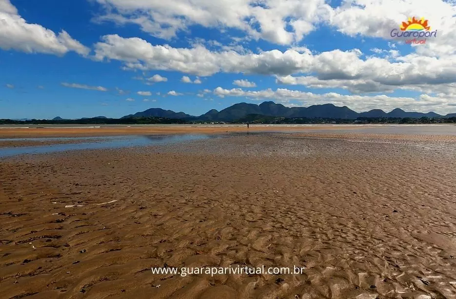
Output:
[[2,160],[1,298],[455,298],[455,153],[264,134]]

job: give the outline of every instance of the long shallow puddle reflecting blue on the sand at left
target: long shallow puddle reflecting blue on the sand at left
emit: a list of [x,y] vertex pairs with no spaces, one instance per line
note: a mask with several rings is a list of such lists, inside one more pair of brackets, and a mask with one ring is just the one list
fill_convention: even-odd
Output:
[[47,140],[96,140],[96,142],[53,144],[46,146],[30,146],[17,148],[0,148],[0,158],[11,157],[22,154],[41,154],[66,150],[93,150],[93,149],[115,149],[131,148],[150,145],[165,145],[185,141],[203,140],[216,138],[215,135],[205,134],[183,134],[183,135],[147,135],[147,136],[107,136],[107,137],[76,137],[76,138],[9,138],[0,141],[47,141]]

